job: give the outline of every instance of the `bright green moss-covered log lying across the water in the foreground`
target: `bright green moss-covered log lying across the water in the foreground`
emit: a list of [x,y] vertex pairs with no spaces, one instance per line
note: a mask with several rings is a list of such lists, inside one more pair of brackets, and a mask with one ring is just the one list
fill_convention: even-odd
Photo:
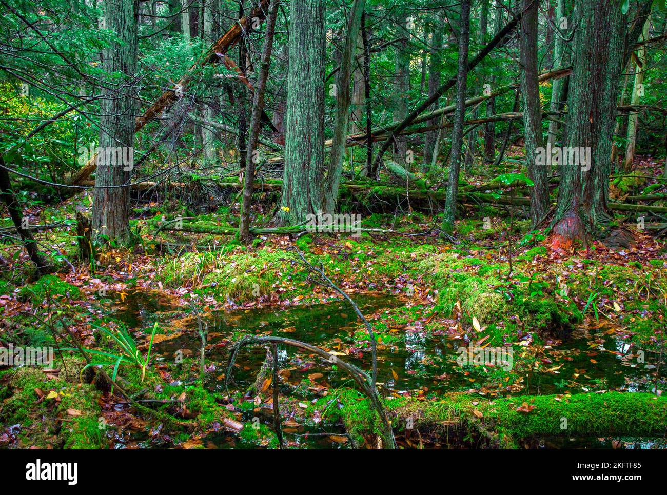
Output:
[[[462,438],[477,434],[500,448],[517,448],[517,440],[544,436],[662,437],[667,432],[667,398],[653,394],[606,392],[476,400],[479,404],[474,406],[472,398],[458,394],[408,401],[393,412],[396,432],[406,432],[410,420],[410,426],[422,435],[432,431],[446,436],[457,430]],[[460,414],[445,416],[447,405],[455,402]]]

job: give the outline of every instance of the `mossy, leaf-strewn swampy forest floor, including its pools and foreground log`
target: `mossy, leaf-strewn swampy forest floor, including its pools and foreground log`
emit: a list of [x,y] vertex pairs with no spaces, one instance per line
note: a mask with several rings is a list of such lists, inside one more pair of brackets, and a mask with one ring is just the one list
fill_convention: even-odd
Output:
[[[660,177],[650,166],[635,175]],[[612,193],[654,184],[621,177]],[[89,196],[76,195],[29,215],[44,224],[89,209]],[[185,227],[209,232],[160,229],[179,214]],[[313,284],[299,250],[370,320],[378,388],[400,446],[666,448],[664,242],[642,230],[632,249],[557,252],[513,216],[473,205],[457,222],[457,243],[429,232],[437,217],[406,209],[362,219],[394,233],[260,235],[243,246],[211,233],[233,227],[228,207],[197,214],[147,203],[133,212],[136,245],[103,250],[93,266],[75,262],[74,225],[41,231],[62,268],[35,281],[22,252],[0,260],[0,342],[57,352],[49,368],[0,371],[0,447],[277,446],[273,356],[243,348],[227,377],[235,342],[281,336],[372,368],[354,308]],[[120,356],[113,335],[123,329],[139,357],[151,358],[142,375],[126,354],[115,376],[123,393],[111,393],[92,368],[81,372],[80,350],[65,348],[79,343],[92,362],[111,363],[111,376]],[[278,349],[287,446],[378,446],[378,416],[336,362]],[[484,356],[492,349],[510,366]],[[468,352],[483,357],[461,364]]]

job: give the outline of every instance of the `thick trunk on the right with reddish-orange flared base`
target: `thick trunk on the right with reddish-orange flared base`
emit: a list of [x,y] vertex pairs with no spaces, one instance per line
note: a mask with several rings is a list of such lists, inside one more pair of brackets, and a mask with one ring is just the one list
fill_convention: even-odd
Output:
[[561,183],[552,246],[600,237],[608,209],[609,157],[623,57],[622,0],[580,0],[574,9],[574,71],[568,95],[567,147],[589,148],[590,164],[560,167]]

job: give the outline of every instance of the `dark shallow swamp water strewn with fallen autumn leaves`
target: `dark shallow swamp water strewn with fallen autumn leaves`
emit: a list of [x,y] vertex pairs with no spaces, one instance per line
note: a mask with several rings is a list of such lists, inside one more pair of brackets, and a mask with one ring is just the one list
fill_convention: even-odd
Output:
[[[576,394],[603,390],[627,392],[654,392],[663,389],[667,382],[664,362],[660,356],[643,351],[638,359],[636,346],[628,344],[628,334],[613,328],[578,328],[572,338],[562,344],[544,346],[542,352],[532,356],[535,362],[522,358],[521,372],[510,382],[504,382],[506,374],[494,373],[493,366],[459,366],[457,350],[468,346],[462,338],[447,335],[436,336],[420,330],[420,326],[396,325],[392,328],[386,319],[390,311],[404,308],[404,300],[385,294],[357,294],[354,300],[362,313],[375,324],[381,325],[380,334],[385,341],[378,343],[378,382],[384,394],[443,394],[468,390],[482,395],[503,396],[511,394]],[[174,362],[178,353],[199,353],[201,341],[197,335],[197,320],[187,306],[178,306],[159,292],[136,292],[124,301],[110,300],[114,318],[125,322],[129,328],[152,328],[159,322],[167,333],[175,338],[155,345],[158,360]],[[340,353],[346,360],[362,369],[370,370],[372,358],[364,326],[353,308],[346,302],[334,300],[313,306],[288,308],[253,308],[232,312],[201,314],[207,329],[206,362],[209,372],[221,374],[227,360],[229,346],[246,334],[255,336],[283,336],[301,340],[328,351]],[[514,354],[521,353],[514,346]],[[237,360],[236,386],[245,392],[255,381],[255,374],[265,359],[265,349],[245,348]],[[289,370],[293,386],[303,384],[317,388],[338,388],[350,384],[350,377],[327,364],[317,361],[295,348],[280,348],[279,366]],[[516,362],[515,362],[516,365]],[[549,371],[550,370],[550,371]],[[500,378],[502,377],[502,378]],[[214,388],[221,381],[213,380]],[[267,423],[270,421],[267,420]],[[307,435],[310,433],[311,435]],[[305,430],[287,427],[285,436],[291,436],[304,447],[339,448],[325,433],[336,435],[335,428],[310,428]],[[314,434],[314,435],[313,435]],[[335,438],[335,437],[334,437]],[[233,434],[219,432],[203,442],[209,448],[248,447]],[[614,444],[613,442],[617,442]],[[543,439],[540,446],[555,448],[614,448],[623,442],[624,448],[665,448],[664,442],[652,439]]]

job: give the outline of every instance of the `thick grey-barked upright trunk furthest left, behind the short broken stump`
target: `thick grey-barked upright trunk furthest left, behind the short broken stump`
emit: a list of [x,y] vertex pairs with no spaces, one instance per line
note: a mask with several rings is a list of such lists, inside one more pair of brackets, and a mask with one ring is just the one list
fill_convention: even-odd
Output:
[[[107,0],[107,29],[116,33],[104,49],[104,69],[110,75],[121,74],[121,81],[105,83],[105,97],[101,101],[99,118],[99,149],[95,175],[95,202],[93,203],[93,237],[105,241],[127,243],[129,230],[128,187],[113,187],[129,183],[134,167],[134,131],[137,105],[134,77],[137,71],[137,18],[138,0]],[[119,151],[120,150],[120,151]],[[105,187],[112,186],[112,187]]]

